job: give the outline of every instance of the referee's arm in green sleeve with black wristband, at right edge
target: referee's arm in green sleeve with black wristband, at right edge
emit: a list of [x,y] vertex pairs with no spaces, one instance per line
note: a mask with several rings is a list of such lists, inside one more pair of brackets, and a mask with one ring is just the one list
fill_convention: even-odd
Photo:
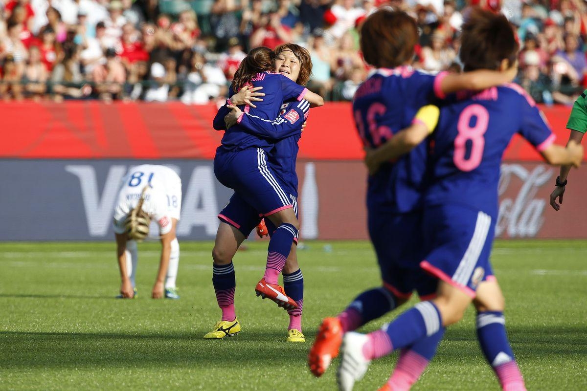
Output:
[[[575,104],[573,104],[569,121],[566,123],[566,128],[571,130],[569,142],[572,140],[577,144],[581,144],[583,135],[587,131],[587,100],[585,99],[585,94],[587,94],[587,90],[583,91],[581,96],[575,101]],[[562,204],[562,196],[565,194],[566,177],[569,175],[569,171],[571,171],[570,165],[561,166],[561,175],[556,177],[556,187],[551,193],[551,206],[554,210],[561,209],[561,205],[559,204]],[[557,198],[559,203],[556,203]]]

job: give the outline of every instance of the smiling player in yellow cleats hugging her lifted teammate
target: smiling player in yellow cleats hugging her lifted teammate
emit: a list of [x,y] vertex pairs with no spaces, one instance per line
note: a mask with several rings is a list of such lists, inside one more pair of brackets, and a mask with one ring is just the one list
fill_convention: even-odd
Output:
[[[294,44],[285,44],[276,47],[275,70],[290,80],[304,86],[312,71],[312,61],[309,53],[303,47]],[[255,102],[262,101],[263,93],[257,93],[259,87],[255,87],[248,96],[252,96]],[[242,90],[241,90],[242,92]],[[290,101],[282,104],[280,117],[275,120],[261,118],[258,115],[251,115],[251,112],[244,113],[231,104],[241,104],[245,98],[241,93],[232,96],[227,105],[218,112],[214,121],[217,130],[225,127],[224,115],[231,117],[228,125],[234,125],[238,120],[239,124],[246,131],[259,137],[266,138],[274,143],[268,157],[268,166],[274,172],[275,178],[281,183],[282,189],[291,200],[294,213],[297,215],[297,191],[298,178],[295,173],[295,161],[298,153],[298,140],[301,135],[302,124],[308,117],[309,103],[306,100]],[[252,106],[252,102],[251,106]],[[234,110],[230,110],[233,108]],[[252,229],[258,225],[259,212],[254,206],[249,205],[238,193],[231,197],[230,202],[220,212],[218,218],[221,220],[212,256],[214,258],[214,276],[212,282],[216,291],[218,305],[222,310],[222,319],[215,325],[214,329],[206,334],[204,338],[224,338],[224,336],[235,334],[240,330],[234,310],[235,276],[232,266],[232,257],[240,244],[248,236]],[[275,225],[268,220],[269,233],[276,231]],[[302,334],[301,315],[303,307],[303,275],[298,266],[296,258],[295,243],[291,246],[291,252],[287,257],[282,273],[284,274],[284,290],[288,297],[298,304],[297,308],[288,310],[289,327],[288,342],[304,342]]]

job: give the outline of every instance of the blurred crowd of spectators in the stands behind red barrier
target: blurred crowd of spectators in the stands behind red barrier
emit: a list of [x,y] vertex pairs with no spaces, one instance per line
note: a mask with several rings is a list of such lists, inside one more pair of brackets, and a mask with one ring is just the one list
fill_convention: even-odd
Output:
[[460,26],[482,6],[517,27],[517,82],[535,100],[572,104],[587,86],[583,0],[4,0],[0,96],[208,103],[249,49],[294,42],[312,55],[309,88],[350,100],[369,71],[357,28],[382,5],[416,19],[415,67],[458,72]]

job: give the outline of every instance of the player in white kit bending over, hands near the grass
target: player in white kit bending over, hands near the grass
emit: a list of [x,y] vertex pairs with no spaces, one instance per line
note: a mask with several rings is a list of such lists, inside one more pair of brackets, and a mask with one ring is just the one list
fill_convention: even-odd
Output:
[[137,242],[149,235],[151,219],[159,226],[161,257],[152,298],[180,298],[176,277],[180,245],[176,228],[181,212],[181,179],[171,168],[143,164],[131,167],[122,179],[114,208],[116,253],[120,268],[119,298],[134,298],[139,253]]

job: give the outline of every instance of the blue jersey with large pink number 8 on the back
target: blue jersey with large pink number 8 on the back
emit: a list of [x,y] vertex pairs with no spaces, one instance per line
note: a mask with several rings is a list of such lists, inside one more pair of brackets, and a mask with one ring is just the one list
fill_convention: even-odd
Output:
[[501,159],[515,133],[538,151],[555,138],[518,84],[457,93],[444,101],[430,140],[426,205],[458,203],[497,218]]

